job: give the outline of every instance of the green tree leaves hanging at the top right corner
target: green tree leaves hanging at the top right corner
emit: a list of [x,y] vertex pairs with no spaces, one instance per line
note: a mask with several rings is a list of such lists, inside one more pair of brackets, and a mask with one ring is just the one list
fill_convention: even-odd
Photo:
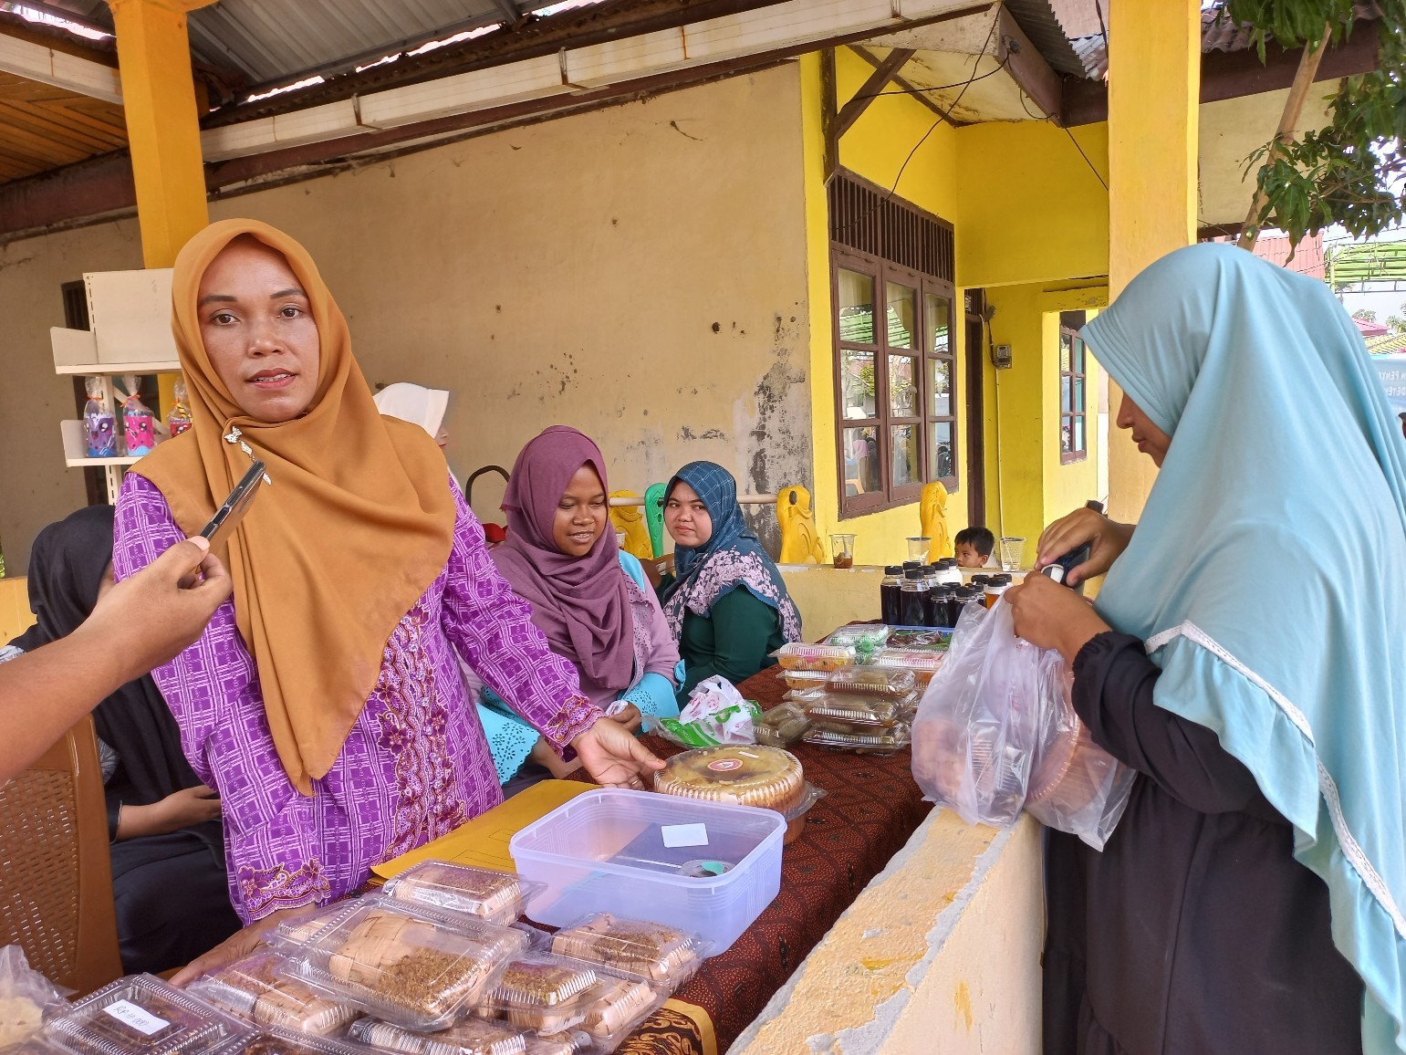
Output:
[[[1250,156],[1247,172],[1258,166],[1267,198],[1258,225],[1284,229],[1294,245],[1331,224],[1367,238],[1406,218],[1406,0],[1378,0],[1378,69],[1343,79],[1327,96],[1326,128],[1272,158],[1272,143]],[[1353,0],[1227,0],[1226,17],[1251,25],[1263,62],[1268,41],[1313,48],[1330,24],[1333,42],[1341,44],[1353,30]]]

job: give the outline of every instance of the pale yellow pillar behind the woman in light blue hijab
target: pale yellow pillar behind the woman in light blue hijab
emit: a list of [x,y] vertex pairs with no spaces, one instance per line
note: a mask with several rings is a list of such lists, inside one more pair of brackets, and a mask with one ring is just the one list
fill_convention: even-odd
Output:
[[[1199,0],[1112,0],[1108,24],[1108,284],[1197,238]],[[1109,385],[1116,418],[1122,392]],[[1108,437],[1109,515],[1136,520],[1156,468],[1129,435]]]

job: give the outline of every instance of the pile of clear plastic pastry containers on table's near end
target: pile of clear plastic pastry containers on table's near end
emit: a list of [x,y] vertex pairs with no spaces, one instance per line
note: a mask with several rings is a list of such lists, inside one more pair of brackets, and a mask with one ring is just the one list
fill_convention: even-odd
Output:
[[[693,976],[697,934],[612,913],[547,933],[541,883],[426,861],[295,916],[187,990],[115,982],[45,1027],[76,1055],[602,1055]],[[35,1048],[37,1051],[55,1048]]]

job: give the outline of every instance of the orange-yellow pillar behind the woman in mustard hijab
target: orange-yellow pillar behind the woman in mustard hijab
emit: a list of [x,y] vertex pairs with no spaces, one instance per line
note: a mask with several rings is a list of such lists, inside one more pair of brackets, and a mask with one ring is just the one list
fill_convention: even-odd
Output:
[[[180,248],[209,222],[186,31],[186,13],[209,3],[108,0],[146,267],[170,267]],[[174,398],[174,374],[159,376],[162,415]]]

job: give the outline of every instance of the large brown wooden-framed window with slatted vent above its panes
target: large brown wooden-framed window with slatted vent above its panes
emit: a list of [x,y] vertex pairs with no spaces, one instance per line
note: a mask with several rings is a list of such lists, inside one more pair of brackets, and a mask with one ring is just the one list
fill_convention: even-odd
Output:
[[952,226],[849,173],[830,224],[841,516],[956,491]]

